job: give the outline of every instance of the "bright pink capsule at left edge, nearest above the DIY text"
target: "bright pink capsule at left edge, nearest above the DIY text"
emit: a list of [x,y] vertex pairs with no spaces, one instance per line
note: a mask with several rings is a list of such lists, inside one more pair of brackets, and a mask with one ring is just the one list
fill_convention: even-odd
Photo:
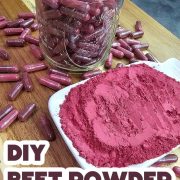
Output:
[[17,119],[18,113],[18,110],[12,110],[0,121],[0,132],[7,129]]

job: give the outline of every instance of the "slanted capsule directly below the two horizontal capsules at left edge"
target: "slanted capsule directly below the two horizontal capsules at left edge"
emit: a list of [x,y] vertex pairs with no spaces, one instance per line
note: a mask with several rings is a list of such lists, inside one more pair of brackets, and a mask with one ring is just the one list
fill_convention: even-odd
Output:
[[18,95],[21,93],[22,89],[23,89],[23,83],[20,81],[20,82],[17,82],[13,87],[12,89],[9,91],[8,93],[8,99],[10,101],[14,101]]

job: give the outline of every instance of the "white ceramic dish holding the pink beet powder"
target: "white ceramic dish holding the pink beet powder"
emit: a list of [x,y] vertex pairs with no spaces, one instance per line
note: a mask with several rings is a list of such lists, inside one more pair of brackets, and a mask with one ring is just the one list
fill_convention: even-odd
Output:
[[[154,62],[145,62],[147,65],[167,74],[168,76],[175,78],[177,81],[180,81],[180,61],[177,59],[169,59],[165,63],[154,63]],[[135,63],[140,64],[140,63]],[[74,87],[76,87],[79,84],[85,83],[85,81],[81,81],[79,83],[73,84],[71,86],[68,86],[58,92],[56,92],[50,99],[49,99],[49,112],[52,116],[52,119],[54,123],[56,124],[59,133],[63,137],[65,143],[67,144],[69,150],[75,157],[76,161],[79,163],[79,165],[83,169],[92,168],[94,167],[92,164],[89,164],[84,158],[79,156],[79,152],[73,147],[72,141],[66,136],[63,129],[61,128],[61,119],[59,118],[59,111],[60,111],[60,105],[63,104],[66,95],[70,92],[70,90]],[[164,154],[158,158],[148,160],[142,164],[136,164],[132,165],[133,167],[149,167],[155,162],[157,162],[159,159],[164,157],[167,154]]]

